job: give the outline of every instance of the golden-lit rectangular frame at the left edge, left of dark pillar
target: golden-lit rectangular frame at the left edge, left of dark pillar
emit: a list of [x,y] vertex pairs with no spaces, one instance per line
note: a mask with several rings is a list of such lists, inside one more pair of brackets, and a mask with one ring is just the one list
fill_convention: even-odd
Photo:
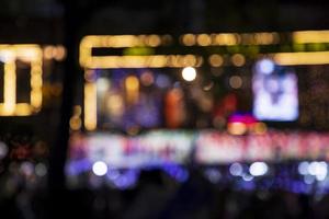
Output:
[[[16,103],[16,60],[31,65],[30,103]],[[0,61],[4,66],[3,103],[0,116],[26,116],[42,107],[43,51],[38,45],[0,45]]]

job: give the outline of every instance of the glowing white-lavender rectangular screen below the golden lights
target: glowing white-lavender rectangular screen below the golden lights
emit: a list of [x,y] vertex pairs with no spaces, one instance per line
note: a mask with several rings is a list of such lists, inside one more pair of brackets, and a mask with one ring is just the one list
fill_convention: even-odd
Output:
[[297,77],[270,59],[256,64],[252,78],[253,114],[261,120],[295,120],[298,117]]

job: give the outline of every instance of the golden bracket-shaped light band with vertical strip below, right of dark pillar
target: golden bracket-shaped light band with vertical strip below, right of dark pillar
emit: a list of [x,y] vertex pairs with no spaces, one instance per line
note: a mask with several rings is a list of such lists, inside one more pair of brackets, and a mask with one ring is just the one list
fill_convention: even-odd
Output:
[[[149,55],[150,48],[144,48],[143,55],[128,50],[125,56],[93,56],[94,48],[128,48],[157,47],[170,41],[169,35],[117,35],[117,36],[86,36],[80,43],[80,65],[84,71],[84,127],[87,130],[97,128],[97,84],[92,69],[115,68],[183,68],[198,67],[203,64],[201,56],[186,55]],[[137,49],[138,50],[138,49]],[[127,53],[127,50],[125,50]],[[132,51],[134,51],[132,54]],[[139,50],[140,51],[140,50]]]

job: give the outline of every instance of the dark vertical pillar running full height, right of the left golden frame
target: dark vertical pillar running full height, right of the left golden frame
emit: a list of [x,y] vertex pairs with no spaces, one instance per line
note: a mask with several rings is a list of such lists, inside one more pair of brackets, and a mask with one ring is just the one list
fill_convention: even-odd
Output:
[[[58,130],[55,134],[56,140],[50,148],[49,157],[49,217],[65,218],[68,215],[69,197],[65,186],[65,163],[68,152],[69,119],[73,104],[73,92],[78,76],[78,65],[76,62],[78,53],[78,26],[79,16],[75,10],[75,1],[63,1],[65,5],[65,47],[67,57],[65,60],[65,72],[63,78],[63,99],[60,106],[60,120]],[[45,131],[46,126],[45,126]]]

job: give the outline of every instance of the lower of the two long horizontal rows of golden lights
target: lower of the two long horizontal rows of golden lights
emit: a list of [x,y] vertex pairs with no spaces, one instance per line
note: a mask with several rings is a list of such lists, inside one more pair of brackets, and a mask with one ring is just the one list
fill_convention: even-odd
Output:
[[[260,57],[263,57],[261,55]],[[298,65],[327,65],[329,64],[329,51],[300,51],[269,54],[266,57],[273,59],[280,66]],[[235,67],[246,65],[242,54],[235,54],[229,61]],[[188,66],[201,67],[203,57],[196,55],[151,55],[151,56],[105,56],[105,57],[80,57],[80,64],[84,68],[183,68]],[[208,57],[212,67],[222,67],[225,57],[213,54]]]

